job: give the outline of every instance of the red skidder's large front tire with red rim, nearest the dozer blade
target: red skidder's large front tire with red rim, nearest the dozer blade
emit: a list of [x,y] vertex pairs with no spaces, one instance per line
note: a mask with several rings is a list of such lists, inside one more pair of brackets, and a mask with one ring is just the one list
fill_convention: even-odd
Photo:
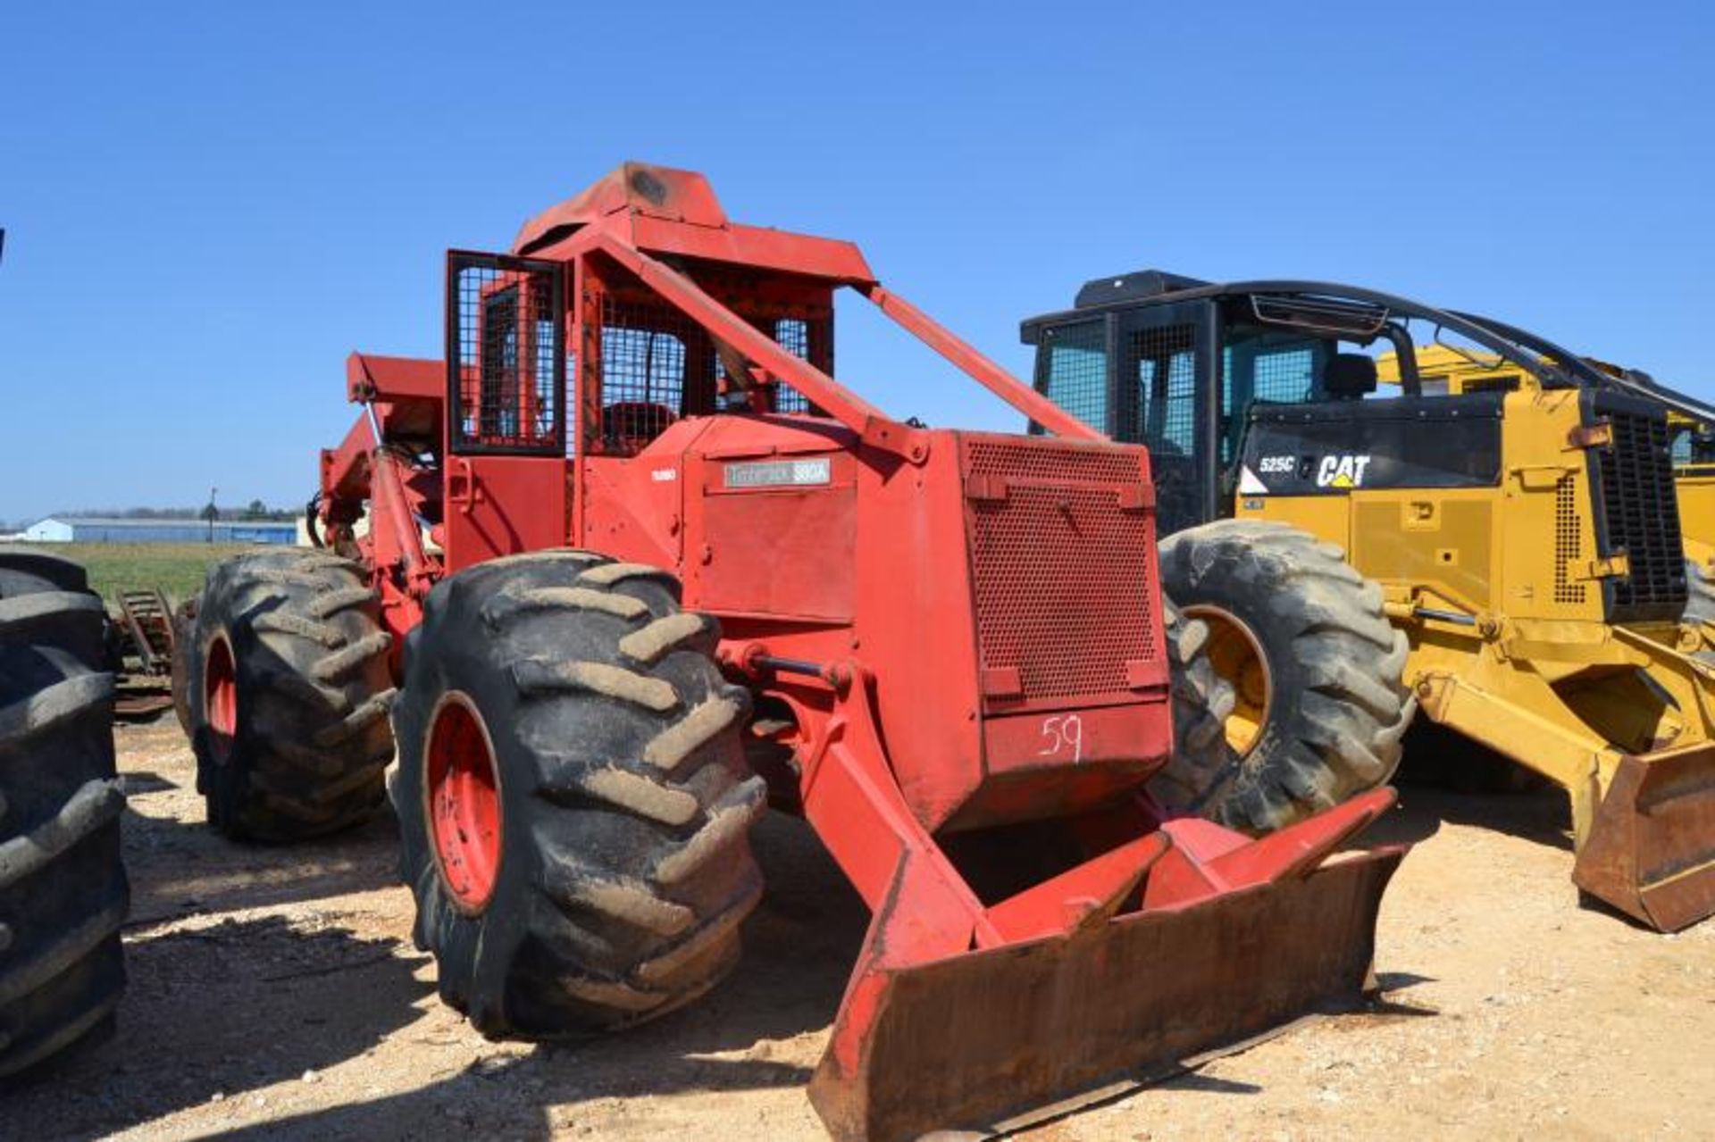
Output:
[[664,571],[535,552],[439,583],[406,640],[393,806],[417,945],[489,1037],[636,1024],[737,962],[761,895],[749,694]]

